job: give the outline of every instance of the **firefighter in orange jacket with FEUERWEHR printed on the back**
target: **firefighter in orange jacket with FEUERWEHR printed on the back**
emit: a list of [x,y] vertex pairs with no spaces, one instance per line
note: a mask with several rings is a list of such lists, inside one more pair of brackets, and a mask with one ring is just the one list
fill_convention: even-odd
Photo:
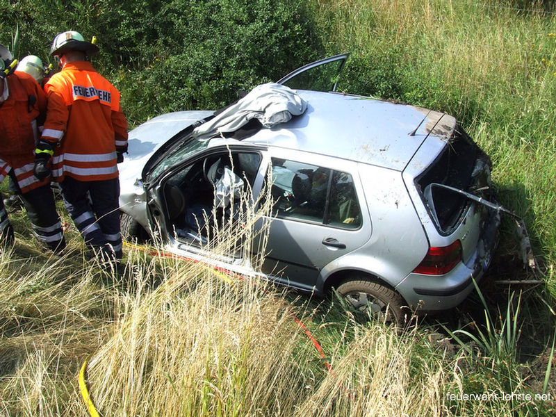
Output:
[[88,62],[99,51],[80,33],[54,38],[62,70],[47,81],[47,120],[35,152],[35,176],[50,173],[88,247],[101,259],[122,257],[117,163],[127,150],[120,92]]

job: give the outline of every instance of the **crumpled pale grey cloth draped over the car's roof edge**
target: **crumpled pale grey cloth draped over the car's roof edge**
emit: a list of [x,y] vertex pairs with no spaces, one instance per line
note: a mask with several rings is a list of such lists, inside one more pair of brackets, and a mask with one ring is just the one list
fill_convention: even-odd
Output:
[[258,119],[265,128],[270,128],[303,114],[306,108],[306,101],[286,85],[261,84],[212,120],[195,128],[193,136],[208,140],[220,133],[234,132],[252,119]]

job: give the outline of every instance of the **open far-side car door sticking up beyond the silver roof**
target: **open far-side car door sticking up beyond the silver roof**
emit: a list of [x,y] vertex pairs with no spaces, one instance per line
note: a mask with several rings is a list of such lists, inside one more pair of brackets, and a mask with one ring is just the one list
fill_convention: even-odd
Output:
[[336,91],[338,76],[350,54],[330,56],[304,65],[282,77],[277,83],[293,90]]

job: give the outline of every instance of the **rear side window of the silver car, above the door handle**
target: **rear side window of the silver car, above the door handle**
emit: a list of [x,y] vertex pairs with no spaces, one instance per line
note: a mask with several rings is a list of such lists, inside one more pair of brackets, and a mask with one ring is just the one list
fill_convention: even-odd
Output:
[[272,158],[275,217],[342,229],[361,226],[352,176],[329,168]]

